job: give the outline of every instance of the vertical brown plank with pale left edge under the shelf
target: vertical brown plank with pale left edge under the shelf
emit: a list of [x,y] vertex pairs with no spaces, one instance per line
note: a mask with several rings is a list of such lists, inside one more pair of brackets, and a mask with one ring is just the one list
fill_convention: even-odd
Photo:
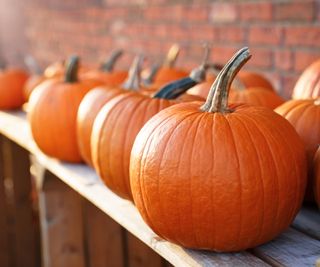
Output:
[[84,267],[81,197],[49,172],[39,196],[44,267]]

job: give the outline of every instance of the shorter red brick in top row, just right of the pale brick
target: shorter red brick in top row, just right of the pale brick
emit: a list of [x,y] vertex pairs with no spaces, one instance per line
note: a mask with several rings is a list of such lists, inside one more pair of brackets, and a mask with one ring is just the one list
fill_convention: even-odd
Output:
[[270,1],[240,4],[240,19],[243,21],[271,21],[272,4]]

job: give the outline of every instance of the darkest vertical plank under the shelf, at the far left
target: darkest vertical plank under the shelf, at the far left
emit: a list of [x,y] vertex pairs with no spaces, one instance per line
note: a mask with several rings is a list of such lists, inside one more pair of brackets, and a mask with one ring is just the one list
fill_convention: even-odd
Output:
[[29,153],[14,142],[4,139],[4,167],[13,188],[14,261],[16,266],[39,266],[36,227],[31,201]]

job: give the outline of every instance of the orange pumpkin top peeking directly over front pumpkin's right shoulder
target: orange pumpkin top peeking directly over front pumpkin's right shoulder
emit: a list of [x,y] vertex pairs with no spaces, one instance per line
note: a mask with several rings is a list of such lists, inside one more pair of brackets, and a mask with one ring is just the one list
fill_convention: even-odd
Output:
[[230,103],[245,103],[274,109],[284,103],[276,93],[264,88],[255,87],[244,90],[230,90]]

